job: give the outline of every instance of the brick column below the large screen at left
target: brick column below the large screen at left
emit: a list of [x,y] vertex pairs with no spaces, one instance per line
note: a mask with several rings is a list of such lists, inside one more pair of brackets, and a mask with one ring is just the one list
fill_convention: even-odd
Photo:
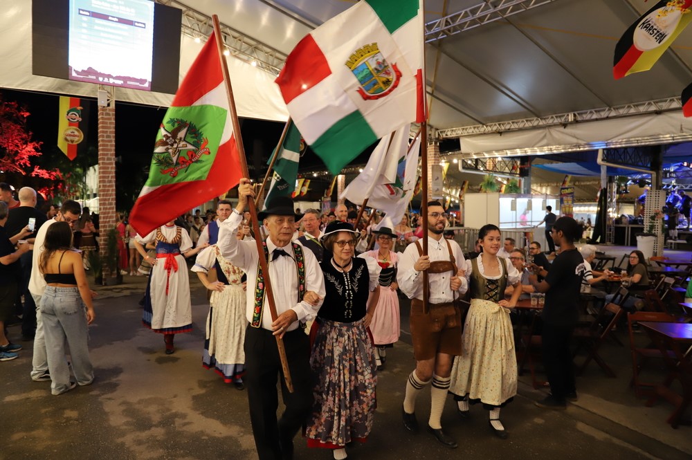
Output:
[[105,264],[108,231],[118,223],[116,215],[116,108],[98,108],[98,214],[100,254],[104,279],[111,273]]

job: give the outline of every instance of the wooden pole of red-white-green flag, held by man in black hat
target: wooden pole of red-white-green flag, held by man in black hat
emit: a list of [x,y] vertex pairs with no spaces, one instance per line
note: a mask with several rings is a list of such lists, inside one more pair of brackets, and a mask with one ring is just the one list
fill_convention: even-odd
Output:
[[[219,50],[219,59],[221,60],[221,69],[224,72],[224,82],[226,82],[226,94],[228,95],[228,107],[230,109],[231,121],[233,122],[233,134],[235,135],[235,141],[238,146],[238,156],[240,158],[240,167],[242,168],[243,177],[249,177],[250,172],[248,171],[248,160],[245,156],[245,147],[243,146],[243,138],[240,134],[240,123],[238,121],[238,115],[235,111],[235,99],[233,98],[233,88],[230,85],[230,77],[228,76],[228,63],[226,62],[226,57],[224,56],[224,44],[221,41],[221,26],[219,25],[219,17],[217,15],[212,16],[214,21],[214,35],[217,42],[217,48]],[[260,235],[260,226],[257,221],[257,206],[254,200],[248,200],[248,206],[250,208],[250,215],[252,217],[253,230],[256,235]],[[260,267],[262,268],[262,273],[264,274],[264,292],[266,293],[266,300],[269,303],[269,312],[271,313],[272,322],[276,321],[276,304],[274,302],[274,293],[271,289],[271,282],[269,281],[269,270],[266,261],[266,256],[264,255],[264,248],[262,247],[262,239],[255,239],[257,243],[257,252],[260,256]],[[286,380],[286,388],[289,392],[293,393],[293,381],[291,380],[291,371],[289,369],[289,363],[286,360],[286,349],[284,348],[284,342],[279,338],[278,335],[274,336],[276,338],[276,346],[279,349],[279,357],[281,359],[281,367],[284,372],[284,380]]]

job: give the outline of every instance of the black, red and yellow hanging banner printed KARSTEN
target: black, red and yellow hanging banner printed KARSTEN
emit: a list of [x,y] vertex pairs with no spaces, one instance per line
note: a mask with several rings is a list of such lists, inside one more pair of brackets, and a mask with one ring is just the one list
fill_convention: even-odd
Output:
[[648,71],[692,21],[692,0],[662,0],[626,30],[615,46],[615,80]]

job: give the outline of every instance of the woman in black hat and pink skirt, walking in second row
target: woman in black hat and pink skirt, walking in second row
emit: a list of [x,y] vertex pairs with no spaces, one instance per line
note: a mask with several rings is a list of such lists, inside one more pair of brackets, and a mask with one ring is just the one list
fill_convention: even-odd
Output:
[[373,230],[378,249],[365,252],[365,256],[372,257],[382,268],[379,275],[379,300],[372,313],[370,332],[375,344],[375,362],[377,369],[381,370],[387,358],[387,349],[399,341],[401,331],[401,317],[399,315],[399,294],[397,289],[397,261],[399,256],[392,251],[394,238],[397,234],[391,228],[381,227]]

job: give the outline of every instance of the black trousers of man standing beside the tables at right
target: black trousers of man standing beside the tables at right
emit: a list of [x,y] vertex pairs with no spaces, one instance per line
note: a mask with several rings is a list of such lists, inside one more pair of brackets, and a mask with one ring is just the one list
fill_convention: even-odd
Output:
[[565,401],[568,393],[576,392],[574,363],[570,351],[573,332],[574,324],[543,324],[543,366],[550,384],[550,392],[559,401]]

